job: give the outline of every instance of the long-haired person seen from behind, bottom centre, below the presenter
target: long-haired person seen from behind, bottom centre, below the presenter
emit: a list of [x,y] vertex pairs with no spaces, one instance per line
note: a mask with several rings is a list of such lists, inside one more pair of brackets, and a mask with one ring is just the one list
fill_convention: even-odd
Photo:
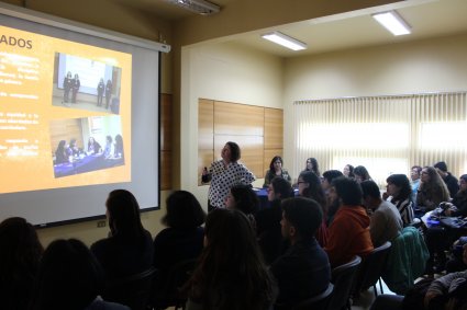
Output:
[[276,296],[274,277],[244,214],[223,208],[208,214],[200,263],[184,291],[188,294],[186,310],[270,309]]

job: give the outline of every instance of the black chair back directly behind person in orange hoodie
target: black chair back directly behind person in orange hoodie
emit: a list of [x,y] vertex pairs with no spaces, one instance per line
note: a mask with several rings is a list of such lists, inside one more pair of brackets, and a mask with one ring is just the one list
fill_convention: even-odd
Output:
[[349,297],[360,263],[360,256],[356,255],[351,262],[337,266],[332,271],[334,290],[327,305],[329,310],[351,309]]

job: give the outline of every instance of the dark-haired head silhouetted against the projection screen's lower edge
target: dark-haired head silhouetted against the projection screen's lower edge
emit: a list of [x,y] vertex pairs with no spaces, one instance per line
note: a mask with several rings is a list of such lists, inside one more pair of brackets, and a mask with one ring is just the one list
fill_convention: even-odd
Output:
[[110,192],[105,202],[107,216],[112,236],[142,236],[140,205],[126,190],[114,190]]

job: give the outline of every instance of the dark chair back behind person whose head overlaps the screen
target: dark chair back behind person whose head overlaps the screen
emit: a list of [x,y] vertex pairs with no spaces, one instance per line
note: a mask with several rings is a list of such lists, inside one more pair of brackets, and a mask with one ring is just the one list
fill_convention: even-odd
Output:
[[132,310],[145,310],[155,275],[156,268],[152,267],[140,274],[108,282],[102,297],[104,300],[129,306]]

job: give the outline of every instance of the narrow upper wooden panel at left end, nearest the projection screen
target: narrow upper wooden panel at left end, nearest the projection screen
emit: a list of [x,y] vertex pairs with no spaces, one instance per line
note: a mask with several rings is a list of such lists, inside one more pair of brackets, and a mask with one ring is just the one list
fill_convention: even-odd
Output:
[[198,150],[214,148],[214,101],[200,99],[198,102]]

